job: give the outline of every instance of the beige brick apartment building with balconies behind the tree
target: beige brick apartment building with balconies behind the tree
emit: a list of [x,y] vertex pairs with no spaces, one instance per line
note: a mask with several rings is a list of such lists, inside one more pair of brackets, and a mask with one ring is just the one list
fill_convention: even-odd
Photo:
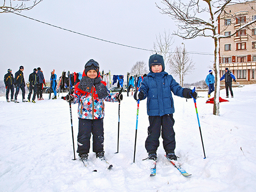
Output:
[[229,36],[220,39],[220,74],[228,68],[241,84],[256,83],[256,23],[239,31],[244,24],[256,20],[256,0],[230,4],[220,16],[219,34]]

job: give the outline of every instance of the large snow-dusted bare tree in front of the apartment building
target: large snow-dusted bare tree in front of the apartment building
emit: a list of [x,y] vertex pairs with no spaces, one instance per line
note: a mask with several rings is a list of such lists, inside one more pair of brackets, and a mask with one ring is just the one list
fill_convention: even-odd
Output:
[[[220,96],[220,70],[219,70],[219,40],[235,35],[241,29],[256,23],[251,21],[242,25],[236,32],[229,36],[220,35],[218,32],[218,21],[223,19],[225,15],[236,18],[225,11],[229,3],[248,2],[248,0],[232,1],[232,0],[162,0],[165,8],[160,8],[162,14],[168,14],[178,22],[178,30],[174,31],[174,35],[183,39],[194,39],[196,37],[211,37],[214,41],[214,73],[215,73],[215,91],[213,114],[219,115],[219,96]],[[253,8],[252,8],[253,9]],[[224,17],[223,17],[224,15]]]

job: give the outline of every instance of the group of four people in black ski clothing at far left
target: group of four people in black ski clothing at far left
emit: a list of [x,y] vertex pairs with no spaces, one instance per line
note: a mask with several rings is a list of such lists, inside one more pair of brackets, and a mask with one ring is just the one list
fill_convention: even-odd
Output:
[[[25,87],[26,82],[24,79],[24,67],[20,66],[19,70],[13,76],[12,69],[7,70],[7,74],[4,75],[4,84],[6,88],[6,101],[14,103],[19,103],[17,100],[17,96],[19,94],[19,90],[22,91],[22,102],[27,102],[25,99]],[[45,80],[43,76],[43,71],[41,68],[33,69],[33,72],[28,77],[29,81],[29,93],[28,93],[28,102],[35,103],[35,99],[37,96],[37,100],[43,100],[43,84],[45,86]],[[14,88],[16,89],[14,94]],[[9,99],[9,93],[11,91],[11,100]],[[34,92],[32,96],[32,100],[30,100],[32,92]]]

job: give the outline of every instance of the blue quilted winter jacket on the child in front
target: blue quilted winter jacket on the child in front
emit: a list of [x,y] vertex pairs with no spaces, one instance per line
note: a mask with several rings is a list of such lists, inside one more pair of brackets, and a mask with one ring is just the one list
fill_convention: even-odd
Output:
[[165,71],[148,73],[143,78],[141,90],[144,93],[143,99],[147,97],[147,114],[149,116],[163,116],[174,113],[171,91],[176,96],[184,97],[184,88]]

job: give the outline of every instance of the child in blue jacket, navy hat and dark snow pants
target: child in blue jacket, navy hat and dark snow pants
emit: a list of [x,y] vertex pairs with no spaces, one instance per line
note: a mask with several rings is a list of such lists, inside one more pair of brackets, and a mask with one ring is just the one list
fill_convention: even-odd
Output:
[[173,130],[174,104],[171,92],[180,97],[196,99],[197,92],[183,88],[171,75],[164,71],[164,59],[161,55],[149,57],[150,72],[143,78],[142,85],[134,93],[135,100],[143,100],[147,97],[147,114],[149,119],[148,137],[145,141],[145,148],[148,152],[148,159],[156,160],[156,150],[159,146],[159,137],[162,132],[163,147],[166,157],[170,160],[177,160],[175,150],[175,133]]

